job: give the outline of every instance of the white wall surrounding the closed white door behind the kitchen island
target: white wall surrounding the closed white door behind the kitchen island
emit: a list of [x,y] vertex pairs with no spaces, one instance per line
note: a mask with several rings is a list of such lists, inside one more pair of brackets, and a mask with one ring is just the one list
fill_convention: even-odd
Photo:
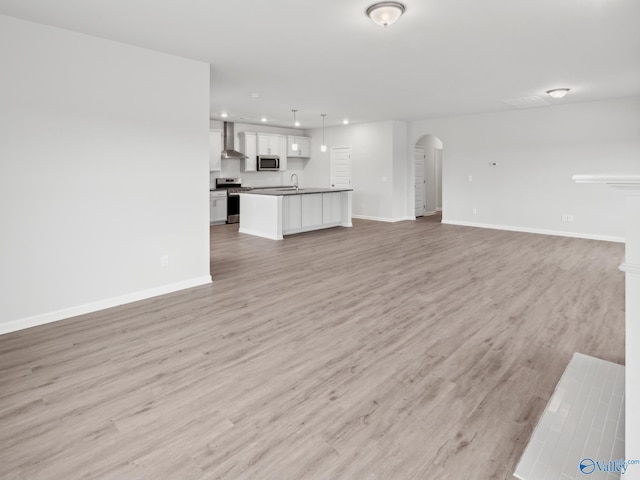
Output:
[[331,147],[351,147],[353,215],[383,221],[407,218],[405,123],[388,121],[326,128],[326,153],[320,152],[322,129],[311,130],[310,134],[312,157],[305,167],[307,185],[328,188]]

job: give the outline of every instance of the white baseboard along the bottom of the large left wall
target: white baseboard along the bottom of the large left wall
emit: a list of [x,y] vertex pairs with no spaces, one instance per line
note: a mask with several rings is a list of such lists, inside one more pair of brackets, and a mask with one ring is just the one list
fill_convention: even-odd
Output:
[[27,318],[20,318],[18,320],[10,320],[8,322],[0,323],[0,335],[3,333],[23,330],[25,328],[37,327],[38,325],[44,325],[46,323],[65,320],[71,317],[77,317],[78,315],[84,315],[86,313],[97,312],[99,310],[104,310],[111,307],[117,307],[118,305],[124,305],[126,303],[133,303],[139,300],[157,297],[166,293],[177,292],[186,288],[198,287],[200,285],[206,285],[209,283],[211,283],[211,275],[205,275],[203,277],[192,278],[189,280],[184,280],[182,282],[170,283],[168,285],[162,285],[160,287],[127,293],[118,297],[105,298],[104,300],[99,300],[97,302],[85,303],[83,305],[77,305],[75,307],[64,308],[62,310],[56,310],[54,312],[34,315]]

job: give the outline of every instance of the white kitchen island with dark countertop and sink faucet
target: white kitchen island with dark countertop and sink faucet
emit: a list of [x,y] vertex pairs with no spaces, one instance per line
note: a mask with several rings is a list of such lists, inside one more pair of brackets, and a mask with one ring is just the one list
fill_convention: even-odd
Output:
[[270,188],[240,193],[240,233],[272,240],[331,227],[351,227],[351,189]]

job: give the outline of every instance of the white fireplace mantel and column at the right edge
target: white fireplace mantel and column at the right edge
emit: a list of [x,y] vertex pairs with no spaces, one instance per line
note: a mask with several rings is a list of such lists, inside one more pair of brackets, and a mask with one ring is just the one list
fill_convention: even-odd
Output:
[[640,175],[574,175],[577,183],[603,183],[625,195],[625,456],[640,458]]

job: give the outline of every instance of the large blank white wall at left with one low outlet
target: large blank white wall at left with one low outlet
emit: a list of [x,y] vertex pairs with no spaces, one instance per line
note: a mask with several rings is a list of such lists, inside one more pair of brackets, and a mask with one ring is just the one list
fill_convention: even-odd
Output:
[[209,282],[209,66],[5,16],[0,65],[0,333]]

